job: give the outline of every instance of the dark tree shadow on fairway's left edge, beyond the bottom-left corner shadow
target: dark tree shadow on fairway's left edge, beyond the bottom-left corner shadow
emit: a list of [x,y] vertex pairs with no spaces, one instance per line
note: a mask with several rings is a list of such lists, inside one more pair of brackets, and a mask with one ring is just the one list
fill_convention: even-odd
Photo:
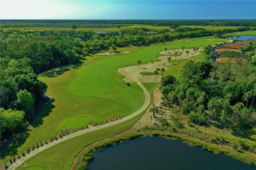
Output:
[[54,99],[52,99],[48,104],[42,106],[36,113],[34,121],[31,123],[32,127],[39,127],[44,123],[44,117],[50,115],[52,109],[55,107],[52,103]]

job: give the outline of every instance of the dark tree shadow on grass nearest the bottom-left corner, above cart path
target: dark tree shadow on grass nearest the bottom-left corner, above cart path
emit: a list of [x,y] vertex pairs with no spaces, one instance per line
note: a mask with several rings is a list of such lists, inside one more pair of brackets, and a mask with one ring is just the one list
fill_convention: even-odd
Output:
[[17,148],[23,145],[26,142],[26,139],[29,136],[29,129],[24,130],[22,133],[19,133],[13,139],[6,144],[6,146],[1,149],[1,158],[6,156],[16,156],[18,153]]

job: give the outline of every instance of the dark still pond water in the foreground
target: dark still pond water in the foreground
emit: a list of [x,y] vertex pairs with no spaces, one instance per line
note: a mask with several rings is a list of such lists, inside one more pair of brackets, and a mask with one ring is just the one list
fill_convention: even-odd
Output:
[[142,137],[93,153],[89,170],[256,170],[224,154],[161,137]]

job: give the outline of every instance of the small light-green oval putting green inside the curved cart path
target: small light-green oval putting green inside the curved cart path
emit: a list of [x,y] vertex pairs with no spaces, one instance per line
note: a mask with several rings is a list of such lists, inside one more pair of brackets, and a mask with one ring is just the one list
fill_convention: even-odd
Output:
[[85,127],[90,122],[90,119],[86,116],[72,117],[64,123],[66,129],[79,129]]

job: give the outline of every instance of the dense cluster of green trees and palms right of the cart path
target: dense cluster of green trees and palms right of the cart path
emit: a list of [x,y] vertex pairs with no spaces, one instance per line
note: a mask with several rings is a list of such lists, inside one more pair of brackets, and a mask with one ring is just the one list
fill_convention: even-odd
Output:
[[255,134],[256,68],[250,63],[189,61],[180,78],[163,77],[160,90],[162,105],[172,111],[176,106],[188,123],[226,126],[248,138]]

